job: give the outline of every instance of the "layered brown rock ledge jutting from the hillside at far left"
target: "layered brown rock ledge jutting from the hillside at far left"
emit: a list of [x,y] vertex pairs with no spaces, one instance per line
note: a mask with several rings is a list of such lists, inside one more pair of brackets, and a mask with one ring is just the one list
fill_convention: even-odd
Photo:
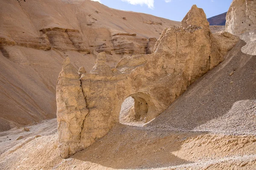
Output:
[[84,44],[82,36],[76,29],[68,28],[44,28],[40,30],[40,37],[1,37],[2,45],[19,45],[28,48],[48,51],[51,48],[59,51],[78,51],[91,53],[91,50]]

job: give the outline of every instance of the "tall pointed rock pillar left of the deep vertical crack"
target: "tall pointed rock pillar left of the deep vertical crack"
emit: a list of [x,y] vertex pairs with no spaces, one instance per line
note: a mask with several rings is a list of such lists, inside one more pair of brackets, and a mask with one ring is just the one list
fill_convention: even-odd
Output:
[[[79,71],[85,72],[83,68]],[[88,113],[79,74],[69,58],[64,60],[58,77],[56,101],[60,155],[67,158],[81,149],[80,133]]]

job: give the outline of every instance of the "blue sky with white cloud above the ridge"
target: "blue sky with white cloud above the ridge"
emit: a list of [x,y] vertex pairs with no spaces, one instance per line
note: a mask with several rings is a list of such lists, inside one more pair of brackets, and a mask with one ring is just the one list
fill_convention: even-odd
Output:
[[227,12],[232,0],[94,0],[115,9],[142,12],[181,21],[193,4],[203,8],[207,18]]

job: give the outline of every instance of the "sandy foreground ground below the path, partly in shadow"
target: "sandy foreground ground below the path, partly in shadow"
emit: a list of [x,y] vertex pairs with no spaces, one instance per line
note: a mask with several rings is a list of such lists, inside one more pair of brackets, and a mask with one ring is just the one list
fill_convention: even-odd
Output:
[[[1,170],[254,169],[256,136],[173,131],[116,125],[107,136],[69,159],[58,154],[57,134],[49,130],[20,140],[0,155]],[[53,133],[53,134],[51,134]],[[17,134],[8,134],[16,138]],[[2,136],[6,137],[6,136]],[[1,142],[1,146],[6,143]]]

